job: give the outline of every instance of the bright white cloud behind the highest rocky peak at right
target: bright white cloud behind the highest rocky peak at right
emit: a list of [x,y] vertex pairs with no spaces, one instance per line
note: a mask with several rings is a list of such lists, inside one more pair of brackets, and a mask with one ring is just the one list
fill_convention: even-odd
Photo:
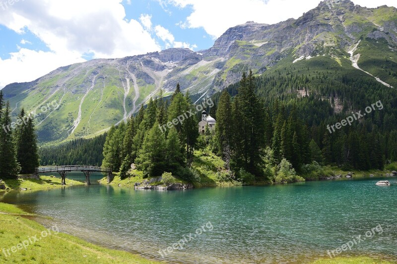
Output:
[[[396,6],[396,0],[353,0],[361,6]],[[191,5],[193,12],[179,25],[202,27],[209,35],[219,37],[228,28],[247,21],[274,24],[288,18],[298,18],[316,7],[320,0],[168,0],[169,4],[184,8]],[[219,10],[222,10],[221,12]]]

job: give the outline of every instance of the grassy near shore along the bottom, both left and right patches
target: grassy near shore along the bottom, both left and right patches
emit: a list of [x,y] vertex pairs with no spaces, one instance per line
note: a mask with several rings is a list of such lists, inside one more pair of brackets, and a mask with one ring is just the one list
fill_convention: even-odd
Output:
[[[0,230],[0,242],[5,251],[0,253],[0,261],[20,262],[21,260],[38,261],[40,263],[136,263],[136,264],[157,264],[166,263],[146,259],[140,255],[132,254],[122,250],[113,250],[98,246],[80,239],[56,231],[57,227],[46,228],[35,220],[28,219],[29,214],[15,205],[0,202],[0,221],[4,222],[4,230]],[[43,216],[45,217],[45,216]],[[44,236],[43,234],[46,234]],[[25,244],[23,248],[19,244],[27,241],[28,237],[39,237],[34,243]],[[22,244],[21,244],[22,245]],[[54,247],[57,245],[57,247]],[[19,248],[19,249],[17,249]],[[7,251],[8,250],[8,251]],[[11,251],[12,250],[12,251]],[[45,254],[43,254],[45,252]],[[8,254],[9,253],[9,254]],[[65,261],[65,259],[67,261]],[[324,258],[310,261],[312,264],[389,264],[391,262],[376,258],[360,257],[336,257]]]

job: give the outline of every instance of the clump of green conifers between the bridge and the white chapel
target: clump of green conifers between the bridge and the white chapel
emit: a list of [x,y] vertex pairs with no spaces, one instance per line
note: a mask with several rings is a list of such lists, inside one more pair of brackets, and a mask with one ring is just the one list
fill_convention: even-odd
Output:
[[163,124],[194,109],[189,92],[181,92],[179,84],[170,100],[164,100],[162,92],[150,99],[147,107],[141,106],[136,116],[127,123],[113,126],[103,148],[103,167],[120,171],[125,176],[131,164],[145,176],[159,176],[163,172],[190,179],[189,169],[199,135],[198,120],[192,116],[166,130]]

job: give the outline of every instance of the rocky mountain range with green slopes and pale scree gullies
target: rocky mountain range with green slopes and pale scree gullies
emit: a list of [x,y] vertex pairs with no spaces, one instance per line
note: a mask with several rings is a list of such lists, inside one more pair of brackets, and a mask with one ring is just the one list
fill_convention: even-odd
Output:
[[[298,19],[247,22],[228,29],[208,50],[168,49],[122,59],[99,59],[58,68],[28,83],[4,87],[13,115],[21,107],[59,107],[37,117],[39,140],[61,142],[100,134],[126,120],[160,89],[177,82],[194,100],[209,96],[253,69],[257,75],[319,70],[360,73],[397,87],[397,9],[366,8],[350,0],[326,0]],[[285,72],[285,71],[284,71]],[[40,111],[37,111],[40,113]]]

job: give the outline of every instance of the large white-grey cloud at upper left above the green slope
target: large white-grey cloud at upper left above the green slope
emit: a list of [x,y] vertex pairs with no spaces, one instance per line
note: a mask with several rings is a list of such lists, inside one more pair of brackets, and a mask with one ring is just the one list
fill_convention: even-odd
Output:
[[29,30],[50,49],[19,49],[10,59],[0,60],[0,88],[84,61],[85,53],[93,54],[94,58],[122,58],[159,51],[156,41],[138,21],[125,18],[121,2],[24,0],[0,8],[0,24],[18,34]]

